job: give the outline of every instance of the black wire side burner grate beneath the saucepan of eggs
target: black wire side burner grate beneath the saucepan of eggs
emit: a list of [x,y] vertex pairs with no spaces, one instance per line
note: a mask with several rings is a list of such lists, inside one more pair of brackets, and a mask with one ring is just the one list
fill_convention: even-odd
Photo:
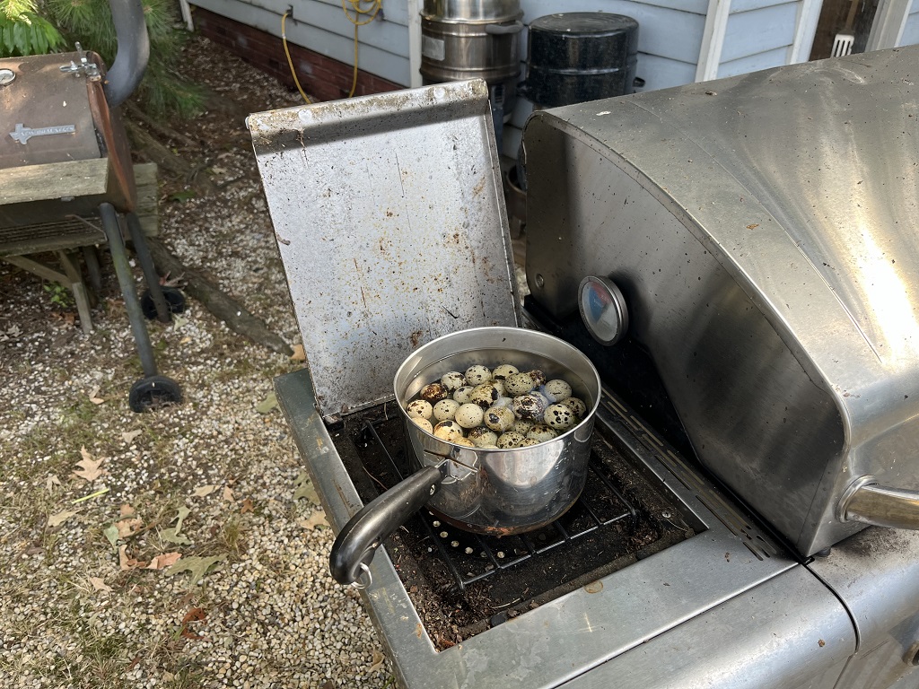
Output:
[[[389,465],[387,475],[392,477],[391,484],[394,484],[404,478],[409,467],[404,446],[393,446],[380,435],[378,426],[389,423],[391,420],[365,420],[356,444],[370,448],[370,454],[385,457]],[[605,527],[630,533],[638,521],[638,511],[610,480],[596,453],[591,453],[589,469],[584,492],[566,514],[550,525],[519,536],[499,538],[464,532],[442,524],[436,515],[423,508],[417,514],[417,521],[426,534],[428,552],[440,556],[456,588],[463,591],[471,583],[569,546]],[[367,467],[365,470],[370,474]],[[377,480],[375,487],[379,493],[390,486],[381,488]]]

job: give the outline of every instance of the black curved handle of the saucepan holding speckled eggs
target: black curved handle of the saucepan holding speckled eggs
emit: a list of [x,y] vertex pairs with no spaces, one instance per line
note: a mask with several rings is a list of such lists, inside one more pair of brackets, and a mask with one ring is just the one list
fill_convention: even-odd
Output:
[[437,467],[415,471],[351,517],[329,555],[329,570],[336,582],[357,582],[382,542],[437,492],[447,476],[447,465],[441,462]]

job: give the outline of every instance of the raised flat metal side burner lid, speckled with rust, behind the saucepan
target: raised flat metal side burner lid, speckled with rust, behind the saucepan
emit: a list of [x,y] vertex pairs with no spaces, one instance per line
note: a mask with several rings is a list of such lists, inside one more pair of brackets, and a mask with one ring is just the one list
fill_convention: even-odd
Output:
[[421,344],[518,324],[483,81],[257,113],[248,126],[323,418],[391,399]]

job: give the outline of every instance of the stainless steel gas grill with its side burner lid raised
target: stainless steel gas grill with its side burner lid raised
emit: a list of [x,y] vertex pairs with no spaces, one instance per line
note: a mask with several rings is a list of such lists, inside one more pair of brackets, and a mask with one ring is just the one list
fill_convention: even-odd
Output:
[[278,401],[336,530],[417,467],[392,381],[425,344],[517,326],[602,381],[567,513],[492,537],[421,507],[365,560],[398,683],[919,683],[919,535],[865,524],[914,520],[917,63],[535,114],[519,312],[484,84],[250,118],[309,358]]

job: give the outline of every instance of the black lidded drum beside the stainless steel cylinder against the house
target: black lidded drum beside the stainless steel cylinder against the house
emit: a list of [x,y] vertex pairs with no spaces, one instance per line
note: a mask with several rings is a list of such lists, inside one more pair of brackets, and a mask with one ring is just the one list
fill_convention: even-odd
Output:
[[568,12],[529,25],[527,80],[519,93],[539,107],[630,94],[638,22],[605,12]]

